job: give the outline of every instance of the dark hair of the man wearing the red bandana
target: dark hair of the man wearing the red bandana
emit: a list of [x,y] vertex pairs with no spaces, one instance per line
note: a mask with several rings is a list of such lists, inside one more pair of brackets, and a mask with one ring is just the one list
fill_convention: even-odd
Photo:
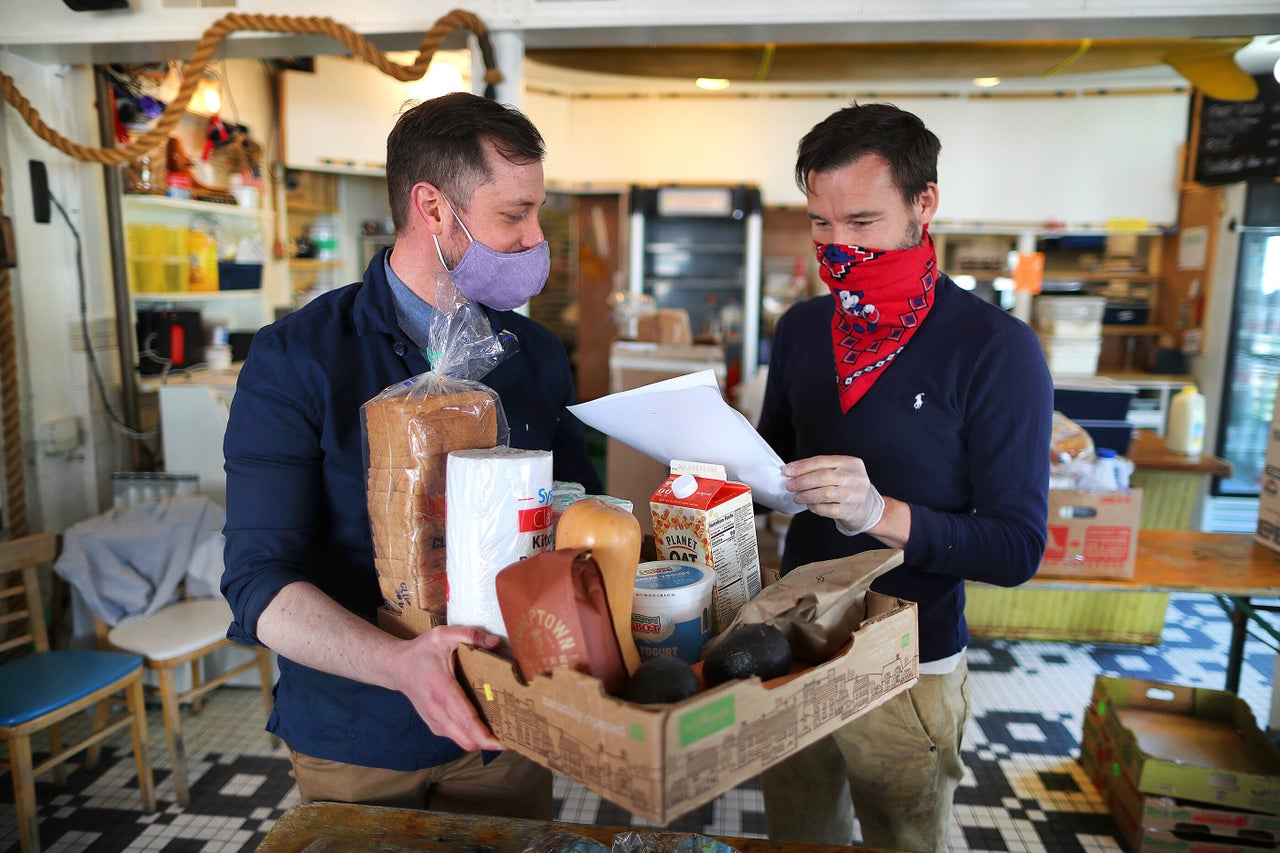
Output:
[[809,192],[809,175],[833,172],[868,154],[888,163],[893,186],[910,204],[938,182],[942,143],[918,115],[892,104],[854,104],[832,113],[800,140],[796,186]]

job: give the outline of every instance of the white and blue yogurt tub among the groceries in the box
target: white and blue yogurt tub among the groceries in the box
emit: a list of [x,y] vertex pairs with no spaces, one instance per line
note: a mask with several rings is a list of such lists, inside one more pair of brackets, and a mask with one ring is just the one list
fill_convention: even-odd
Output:
[[678,560],[641,562],[631,598],[631,637],[644,660],[673,656],[696,663],[712,637],[716,574]]

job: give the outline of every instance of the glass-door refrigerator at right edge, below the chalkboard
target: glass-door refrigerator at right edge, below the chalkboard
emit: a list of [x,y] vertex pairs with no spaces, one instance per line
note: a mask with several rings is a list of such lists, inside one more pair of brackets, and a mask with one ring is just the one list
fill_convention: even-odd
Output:
[[1213,280],[1229,283],[1228,343],[1221,364],[1202,359],[1196,378],[1216,414],[1206,447],[1233,469],[1213,479],[1212,497],[1257,498],[1280,386],[1280,184],[1235,184],[1224,201]]

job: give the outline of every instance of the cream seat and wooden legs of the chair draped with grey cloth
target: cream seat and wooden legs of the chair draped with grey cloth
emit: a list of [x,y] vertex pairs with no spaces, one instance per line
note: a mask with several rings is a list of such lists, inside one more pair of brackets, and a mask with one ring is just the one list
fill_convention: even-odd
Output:
[[[202,697],[242,672],[257,667],[261,680],[262,702],[271,713],[271,684],[274,681],[271,652],[262,647],[246,647],[227,639],[232,624],[232,610],[221,598],[187,598],[166,605],[133,622],[108,629],[99,621],[99,634],[108,648],[142,656],[146,669],[156,675],[160,707],[164,712],[165,739],[173,765],[174,798],[180,806],[191,802],[187,779],[187,753],[182,743],[180,706],[191,702],[191,710],[200,713]],[[204,679],[202,662],[209,654],[224,648],[242,648],[253,656],[220,675]],[[178,667],[191,665],[191,686],[178,689]],[[151,689],[151,688],[148,688]],[[274,743],[274,738],[273,738]]]

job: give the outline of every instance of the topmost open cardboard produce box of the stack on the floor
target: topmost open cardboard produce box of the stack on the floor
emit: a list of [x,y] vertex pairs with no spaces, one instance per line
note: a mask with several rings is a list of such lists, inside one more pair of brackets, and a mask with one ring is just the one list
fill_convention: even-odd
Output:
[[1280,751],[1234,693],[1098,676],[1089,708],[1142,794],[1280,815]]

